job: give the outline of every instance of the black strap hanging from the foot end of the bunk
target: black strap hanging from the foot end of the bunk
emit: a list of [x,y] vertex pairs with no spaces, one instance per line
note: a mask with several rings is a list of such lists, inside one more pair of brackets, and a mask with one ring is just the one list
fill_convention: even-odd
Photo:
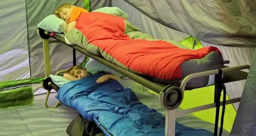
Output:
[[214,136],[217,136],[218,133],[218,123],[219,123],[219,112],[220,112],[220,96],[223,89],[223,104],[222,104],[222,113],[220,120],[220,133],[221,136],[223,131],[223,121],[225,114],[225,106],[226,106],[226,87],[222,83],[222,70],[218,70],[219,73],[215,75],[215,92],[214,92],[214,103],[216,104],[216,115],[215,115],[215,126],[214,126]]

